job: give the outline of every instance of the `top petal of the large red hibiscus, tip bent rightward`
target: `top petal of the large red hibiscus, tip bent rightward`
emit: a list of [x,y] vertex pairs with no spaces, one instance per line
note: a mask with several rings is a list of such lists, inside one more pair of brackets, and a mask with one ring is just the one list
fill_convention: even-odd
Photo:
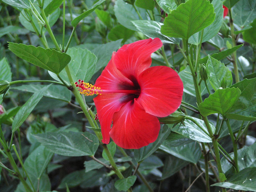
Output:
[[123,45],[115,56],[115,65],[124,76],[132,79],[151,65],[151,53],[162,47],[159,38],[145,39]]

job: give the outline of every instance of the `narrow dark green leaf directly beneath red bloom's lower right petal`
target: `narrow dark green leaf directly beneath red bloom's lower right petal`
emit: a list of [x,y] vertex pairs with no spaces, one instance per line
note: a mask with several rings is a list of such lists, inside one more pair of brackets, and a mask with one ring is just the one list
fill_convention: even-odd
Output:
[[148,146],[142,147],[140,149],[134,149],[135,160],[138,163],[140,163],[141,161],[146,159],[148,156],[150,156],[152,153],[154,153],[162,144],[162,142],[168,137],[170,132],[171,132],[171,129],[167,125],[164,125],[160,129],[159,135],[155,142],[150,143]]

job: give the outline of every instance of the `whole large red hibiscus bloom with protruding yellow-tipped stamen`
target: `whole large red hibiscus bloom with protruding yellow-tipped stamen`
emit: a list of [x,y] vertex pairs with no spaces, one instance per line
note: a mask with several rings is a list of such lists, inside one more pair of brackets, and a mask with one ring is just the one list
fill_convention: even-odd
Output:
[[178,74],[166,66],[150,67],[151,53],[162,45],[159,38],[125,44],[113,52],[94,86],[76,85],[85,95],[98,94],[93,100],[103,143],[111,137],[122,148],[146,146],[157,139],[157,117],[179,108],[183,83]]

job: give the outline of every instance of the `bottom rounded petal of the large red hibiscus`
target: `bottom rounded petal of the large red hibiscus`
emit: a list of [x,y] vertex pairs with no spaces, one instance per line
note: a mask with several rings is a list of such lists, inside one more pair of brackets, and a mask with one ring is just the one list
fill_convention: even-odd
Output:
[[154,142],[159,130],[156,116],[146,113],[136,100],[131,100],[114,113],[110,136],[122,148],[138,149]]

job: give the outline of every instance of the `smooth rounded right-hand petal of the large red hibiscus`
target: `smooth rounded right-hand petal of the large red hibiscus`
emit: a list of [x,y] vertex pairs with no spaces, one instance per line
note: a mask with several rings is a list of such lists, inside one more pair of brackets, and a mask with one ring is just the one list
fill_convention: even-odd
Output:
[[168,116],[179,108],[183,83],[179,75],[166,66],[150,67],[138,77],[140,96],[137,101],[154,116]]

